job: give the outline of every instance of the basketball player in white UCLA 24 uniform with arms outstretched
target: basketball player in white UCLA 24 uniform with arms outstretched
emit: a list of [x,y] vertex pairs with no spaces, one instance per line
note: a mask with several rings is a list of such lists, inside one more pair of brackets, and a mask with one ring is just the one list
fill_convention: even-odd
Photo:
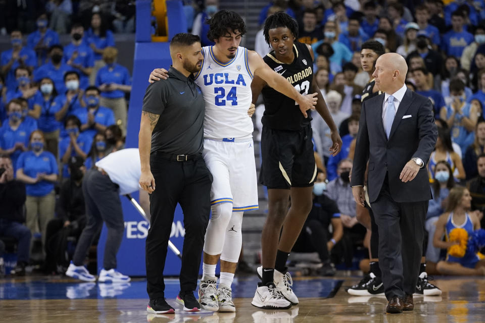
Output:
[[[195,75],[206,103],[204,119],[204,159],[213,175],[212,218],[204,244],[203,277],[199,288],[201,307],[208,310],[235,311],[231,284],[239,258],[243,212],[258,208],[258,188],[253,148],[253,123],[248,118],[253,75],[294,99],[301,113],[314,109],[316,93],[302,95],[289,82],[264,63],[255,51],[240,47],[246,26],[239,15],[222,10],[208,20],[209,39],[214,46],[203,47],[204,62]],[[164,69],[155,69],[150,82],[166,78]],[[299,109],[295,105],[295,109]],[[215,277],[221,259],[219,288]],[[274,286],[258,292],[266,308],[289,308],[289,303]]]

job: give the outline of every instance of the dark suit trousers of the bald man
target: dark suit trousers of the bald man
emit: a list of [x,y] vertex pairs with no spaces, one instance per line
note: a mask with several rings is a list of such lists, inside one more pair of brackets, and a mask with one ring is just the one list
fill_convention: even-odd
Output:
[[418,280],[428,201],[396,202],[386,175],[371,206],[379,230],[379,267],[385,296],[388,300],[394,295],[404,299],[414,293]]

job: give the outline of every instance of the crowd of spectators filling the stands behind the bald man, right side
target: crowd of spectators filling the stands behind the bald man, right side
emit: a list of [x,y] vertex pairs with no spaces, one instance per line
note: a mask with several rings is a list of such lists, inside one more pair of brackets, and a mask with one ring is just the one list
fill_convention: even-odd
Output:
[[[361,100],[369,91],[369,82],[372,81],[372,73],[364,71],[363,67],[372,66],[375,62],[375,57],[367,55],[368,50],[365,55],[361,55],[362,44],[368,40],[377,41],[382,44],[385,52],[397,52],[406,59],[407,86],[428,97],[434,108],[439,137],[427,165],[433,192],[426,222],[429,234],[427,259],[430,267],[437,268],[436,264],[443,259],[443,253],[446,254],[440,248],[443,247],[440,243],[434,243],[433,235],[437,220],[447,210],[448,195],[454,186],[469,187],[472,202],[467,211],[472,214],[470,217],[476,217],[483,226],[484,9],[485,2],[468,0],[275,0],[262,10],[260,24],[264,23],[268,15],[278,11],[284,11],[296,19],[300,26],[299,34],[295,35],[296,40],[311,45],[315,53],[315,80],[340,129],[343,147],[338,155],[330,156],[330,130],[318,114],[313,114],[314,147],[326,168],[319,175],[327,176],[324,189],[316,185],[318,189],[314,192],[323,191],[335,202],[343,226],[340,244],[345,244],[348,237],[351,237],[352,241],[361,241],[366,245],[369,237],[356,219],[356,205],[348,180],[352,169],[354,137],[359,129]],[[256,35],[255,49],[261,56],[271,50],[264,40],[262,30]],[[315,201],[314,208],[321,207],[322,203]],[[334,217],[332,214],[324,222],[326,229]],[[315,228],[314,220],[307,226]],[[320,229],[314,230],[320,232]],[[443,230],[438,231],[443,235]],[[330,241],[330,233],[331,230],[327,234],[320,234],[322,245]],[[302,232],[302,235],[305,233]],[[306,239],[307,245],[315,244],[311,234],[301,239]],[[443,236],[437,239],[441,240]],[[320,254],[323,265],[321,272],[331,274],[325,252],[316,247],[309,249]],[[333,248],[332,252],[338,249]],[[298,251],[302,251],[301,244]],[[332,261],[342,257],[342,254],[334,255]],[[438,272],[440,268],[450,273],[446,265],[438,265]]]

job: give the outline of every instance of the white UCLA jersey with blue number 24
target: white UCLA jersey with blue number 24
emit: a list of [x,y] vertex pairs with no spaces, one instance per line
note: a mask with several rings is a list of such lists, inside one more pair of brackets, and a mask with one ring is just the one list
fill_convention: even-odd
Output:
[[243,138],[253,134],[248,110],[253,99],[248,49],[238,47],[229,62],[219,62],[213,46],[202,48],[204,62],[196,75],[206,103],[204,137]]

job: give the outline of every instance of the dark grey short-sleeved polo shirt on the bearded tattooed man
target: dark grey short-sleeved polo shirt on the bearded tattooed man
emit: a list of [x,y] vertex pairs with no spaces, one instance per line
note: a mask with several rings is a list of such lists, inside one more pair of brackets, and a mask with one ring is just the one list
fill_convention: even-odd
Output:
[[142,110],[160,115],[152,133],[152,151],[196,154],[204,139],[204,97],[193,77],[170,67],[168,79],[150,84]]

